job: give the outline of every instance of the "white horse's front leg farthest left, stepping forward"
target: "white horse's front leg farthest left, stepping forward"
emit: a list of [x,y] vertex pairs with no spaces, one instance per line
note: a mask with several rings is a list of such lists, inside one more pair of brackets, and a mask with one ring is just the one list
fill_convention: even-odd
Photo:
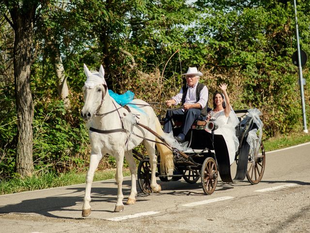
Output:
[[89,202],[91,199],[91,189],[92,189],[92,183],[93,183],[93,174],[95,173],[95,170],[98,167],[98,164],[100,160],[102,159],[102,154],[91,154],[91,161],[89,165],[89,169],[86,175],[86,189],[85,189],[85,197],[84,197],[84,204],[82,207],[82,216],[87,217],[91,214],[92,209]]

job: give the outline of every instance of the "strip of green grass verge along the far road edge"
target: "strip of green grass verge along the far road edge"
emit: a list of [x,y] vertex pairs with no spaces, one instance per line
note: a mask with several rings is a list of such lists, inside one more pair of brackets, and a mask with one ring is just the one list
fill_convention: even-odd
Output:
[[[265,151],[272,151],[306,142],[310,142],[310,134],[291,133],[270,138],[263,141],[263,144]],[[124,169],[123,174],[129,176],[130,172],[128,169]],[[0,182],[0,195],[85,183],[85,177],[86,172],[68,172],[59,175],[46,173],[25,179],[14,178],[10,181]],[[114,177],[115,169],[99,170],[95,172],[93,181],[109,180]]]

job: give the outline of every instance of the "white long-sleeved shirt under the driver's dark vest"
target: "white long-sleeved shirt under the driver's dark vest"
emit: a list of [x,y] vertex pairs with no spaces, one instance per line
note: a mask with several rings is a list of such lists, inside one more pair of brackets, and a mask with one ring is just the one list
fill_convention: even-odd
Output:
[[[199,103],[200,105],[202,105],[202,108],[204,108],[207,105],[207,101],[208,101],[208,97],[209,97],[209,92],[208,92],[208,88],[206,86],[204,86],[200,92],[200,99],[197,102],[196,100],[196,88],[198,85],[198,81],[197,83],[191,87],[187,85],[187,93],[186,93],[186,97],[185,97],[185,103],[189,103],[189,104],[193,104],[193,103]],[[171,99],[175,100],[175,104],[177,105],[182,101],[182,96],[183,96],[183,88],[181,88],[180,92],[172,97]]]

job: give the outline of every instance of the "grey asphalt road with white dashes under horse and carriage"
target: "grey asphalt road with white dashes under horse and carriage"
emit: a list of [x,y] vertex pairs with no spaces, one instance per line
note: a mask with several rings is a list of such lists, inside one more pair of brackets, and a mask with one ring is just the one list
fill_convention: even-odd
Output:
[[[135,205],[114,213],[115,181],[95,182],[87,218],[81,218],[85,184],[3,195],[0,233],[310,232],[310,143],[266,152],[256,185],[219,181],[206,196],[200,181],[158,183],[160,194],[139,193]],[[125,202],[129,179],[123,184]]]

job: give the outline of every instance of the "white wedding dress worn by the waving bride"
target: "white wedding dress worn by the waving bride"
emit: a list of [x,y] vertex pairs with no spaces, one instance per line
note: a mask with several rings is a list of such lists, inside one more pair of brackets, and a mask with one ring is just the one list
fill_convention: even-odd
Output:
[[230,164],[232,165],[235,159],[235,153],[239,147],[239,140],[235,133],[235,127],[239,123],[238,117],[233,110],[229,117],[225,116],[224,110],[219,112],[210,111],[210,114],[211,118],[216,118],[215,122],[218,125],[218,128],[214,133],[223,135],[229,153]]

